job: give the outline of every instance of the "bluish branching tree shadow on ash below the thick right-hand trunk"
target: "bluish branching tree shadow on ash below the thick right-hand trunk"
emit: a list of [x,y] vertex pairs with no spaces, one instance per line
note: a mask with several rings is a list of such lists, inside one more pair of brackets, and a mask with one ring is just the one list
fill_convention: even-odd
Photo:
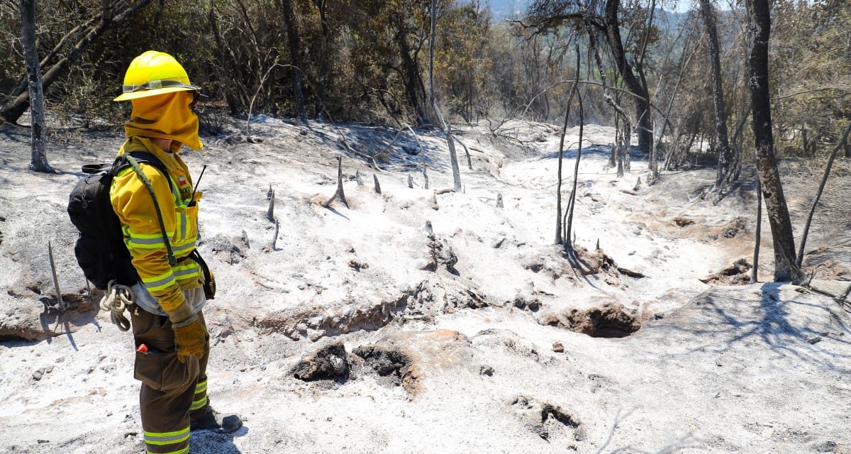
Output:
[[[843,368],[839,364],[851,364],[851,354],[838,353],[830,348],[833,342],[851,345],[851,326],[837,312],[845,312],[845,308],[831,307],[832,302],[818,304],[794,299],[783,301],[780,299],[781,285],[762,284],[762,298],[759,302],[707,293],[693,304],[711,311],[715,317],[700,325],[687,327],[665,323],[664,330],[677,330],[689,333],[690,336],[705,336],[711,340],[711,344],[693,348],[688,353],[710,349],[715,353],[727,353],[736,346],[748,345],[748,342],[762,342],[782,357],[799,359],[837,373],[848,372],[847,367]],[[734,311],[728,309],[731,304],[758,306],[753,307],[750,312],[738,311],[739,314],[734,315]],[[831,319],[831,330],[814,329],[806,325],[813,319],[813,315],[802,314],[797,320],[791,320],[791,310],[796,306],[812,307],[823,312],[824,316]],[[717,348],[719,344],[721,347]]]

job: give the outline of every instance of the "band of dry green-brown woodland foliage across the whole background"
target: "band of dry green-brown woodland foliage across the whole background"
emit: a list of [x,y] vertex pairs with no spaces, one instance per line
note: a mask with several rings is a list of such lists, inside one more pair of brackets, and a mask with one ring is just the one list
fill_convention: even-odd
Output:
[[[211,96],[208,104],[221,109],[294,116],[293,75],[301,71],[312,117],[328,114],[335,121],[396,124],[414,123],[420,115],[429,115],[431,0],[292,0],[300,35],[298,70],[289,66],[294,59],[282,1],[155,0],[91,44],[47,92],[50,109],[67,121],[120,122],[126,106],[111,98],[120,92],[125,68],[136,55],[157,49],[177,57],[192,82]],[[71,45],[97,22],[101,4],[100,0],[38,3],[40,55],[45,58],[57,50],[47,66],[67,55]],[[574,78],[575,40],[583,54],[580,78],[599,80],[583,28],[563,21],[536,33],[517,22],[495,21],[483,5],[477,0],[437,2],[434,80],[437,99],[448,114],[475,122],[525,112],[525,118],[557,121],[569,89],[569,83],[560,82]],[[673,98],[667,134],[676,132],[683,142],[710,137],[714,127],[708,55],[700,23],[684,20],[681,14],[675,18],[677,26],[671,26],[670,18],[657,10],[648,26],[648,12],[647,2],[621,3],[627,60],[637,68],[646,43],[642,70],[654,105],[665,110]],[[717,24],[731,135],[749,97],[743,17],[738,10],[721,11]],[[778,0],[774,6],[772,89],[775,96],[800,92],[774,104],[784,154],[824,153],[851,118],[848,23],[851,5],[844,0]],[[682,33],[679,26],[684,27]],[[23,81],[19,36],[15,3],[0,3],[3,102],[16,94]],[[680,66],[692,53],[694,58],[677,88]],[[621,87],[614,61],[603,54],[609,83]],[[583,89],[588,94],[588,118],[610,123],[614,117],[600,89]],[[628,96],[618,96],[622,102],[631,102]],[[660,121],[657,118],[656,124]],[[749,143],[750,127],[741,131],[738,143]]]

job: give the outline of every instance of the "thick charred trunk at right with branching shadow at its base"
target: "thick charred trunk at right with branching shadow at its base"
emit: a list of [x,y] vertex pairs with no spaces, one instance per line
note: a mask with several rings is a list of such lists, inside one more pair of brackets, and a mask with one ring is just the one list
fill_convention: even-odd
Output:
[[762,182],[765,212],[774,238],[774,280],[799,281],[801,269],[796,266],[795,238],[789,209],[780,182],[780,171],[774,155],[774,136],[771,130],[771,101],[768,90],[768,37],[771,35],[771,16],[768,0],[747,0],[748,85],[753,101],[753,134],[757,153],[757,170]]

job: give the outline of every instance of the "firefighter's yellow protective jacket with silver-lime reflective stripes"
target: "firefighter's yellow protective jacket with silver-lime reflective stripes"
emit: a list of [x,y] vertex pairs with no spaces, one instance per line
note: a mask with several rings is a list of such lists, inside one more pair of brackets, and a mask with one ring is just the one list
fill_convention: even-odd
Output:
[[157,298],[160,307],[171,313],[186,302],[181,290],[196,289],[203,284],[201,267],[188,257],[197,241],[197,201],[202,194],[195,193],[195,204],[190,205],[192,181],[189,168],[176,152],[163,152],[150,139],[134,136],[124,142],[118,155],[136,151],[153,154],[168,170],[170,185],[156,167],[140,164],[157,196],[177,266],[172,267],[168,263],[168,251],[151,193],[132,168],[122,170],[112,181],[112,209],[121,221],[124,244],[142,284],[151,296]]

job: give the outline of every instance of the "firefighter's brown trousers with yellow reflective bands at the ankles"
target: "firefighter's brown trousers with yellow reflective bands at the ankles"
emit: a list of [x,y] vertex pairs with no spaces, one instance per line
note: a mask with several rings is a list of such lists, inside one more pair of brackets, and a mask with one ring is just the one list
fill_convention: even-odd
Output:
[[[205,324],[203,313],[199,312],[198,318]],[[203,414],[209,405],[209,336],[200,359],[190,356],[181,363],[168,317],[134,306],[131,321],[136,345],[134,378],[142,382],[139,406],[148,453],[186,454],[191,414]],[[143,343],[146,353],[139,351]]]

